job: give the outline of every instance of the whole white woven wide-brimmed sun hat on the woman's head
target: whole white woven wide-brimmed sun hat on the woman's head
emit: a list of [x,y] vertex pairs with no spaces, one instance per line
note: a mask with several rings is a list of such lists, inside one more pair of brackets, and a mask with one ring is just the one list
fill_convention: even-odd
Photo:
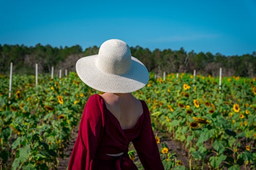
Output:
[[133,92],[149,80],[147,68],[131,56],[130,47],[119,39],[103,42],[97,55],[80,58],[76,72],[88,86],[110,93]]

